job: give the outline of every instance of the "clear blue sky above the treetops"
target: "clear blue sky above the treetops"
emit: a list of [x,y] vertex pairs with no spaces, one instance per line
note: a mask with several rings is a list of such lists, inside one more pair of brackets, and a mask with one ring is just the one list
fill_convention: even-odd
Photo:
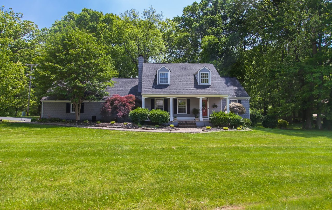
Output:
[[163,12],[165,18],[181,16],[185,6],[195,0],[2,0],[1,5],[12,8],[14,12],[21,12],[25,20],[35,22],[41,29],[50,27],[55,20],[60,20],[68,11],[79,13],[82,8],[102,11],[103,13],[119,14],[129,9],[136,9],[140,13],[152,6],[157,12]]

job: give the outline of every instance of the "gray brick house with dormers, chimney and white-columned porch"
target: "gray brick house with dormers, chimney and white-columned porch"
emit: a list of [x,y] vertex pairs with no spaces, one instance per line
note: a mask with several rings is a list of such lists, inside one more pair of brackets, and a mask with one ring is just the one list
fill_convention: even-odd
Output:
[[[234,77],[220,77],[213,64],[143,63],[138,57],[138,78],[114,78],[114,87],[108,87],[109,95],[101,101],[84,102],[81,119],[107,121],[100,109],[113,94],[135,95],[142,107],[160,108],[170,112],[170,119],[195,120],[193,108],[200,109],[197,125],[208,124],[213,111],[229,111],[229,104],[237,102],[246,108],[243,118],[249,118],[250,97]],[[69,101],[43,97],[41,117],[75,119],[75,109]],[[206,108],[202,108],[206,107]],[[173,122],[174,124],[174,122]],[[176,124],[176,123],[175,123]]]

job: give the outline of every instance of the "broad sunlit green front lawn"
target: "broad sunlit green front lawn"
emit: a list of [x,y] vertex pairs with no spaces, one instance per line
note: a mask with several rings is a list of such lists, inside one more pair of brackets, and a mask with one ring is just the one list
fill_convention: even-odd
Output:
[[0,209],[332,208],[331,131],[3,122],[0,136]]

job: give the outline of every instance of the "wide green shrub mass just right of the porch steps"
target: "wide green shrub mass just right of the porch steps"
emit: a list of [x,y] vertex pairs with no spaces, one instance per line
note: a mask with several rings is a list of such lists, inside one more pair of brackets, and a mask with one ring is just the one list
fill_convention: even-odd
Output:
[[213,126],[221,126],[221,127],[224,126],[238,127],[240,125],[242,126],[244,125],[244,120],[241,116],[233,112],[225,113],[223,111],[213,112],[212,114],[210,114],[209,122],[211,122]]

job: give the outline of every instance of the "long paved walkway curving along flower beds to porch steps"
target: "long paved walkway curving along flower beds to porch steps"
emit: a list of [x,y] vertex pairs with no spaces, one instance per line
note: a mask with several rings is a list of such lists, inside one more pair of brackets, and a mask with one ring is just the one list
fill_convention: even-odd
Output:
[[[15,122],[21,123],[21,122]],[[22,122],[23,123],[23,122]],[[30,124],[43,124],[43,125],[58,125],[66,127],[82,127],[82,128],[93,128],[93,129],[106,129],[106,130],[123,130],[123,131],[141,131],[141,132],[163,132],[163,133],[200,133],[203,132],[201,128],[179,128],[179,130],[144,130],[144,129],[131,129],[131,128],[116,128],[116,127],[97,127],[88,125],[74,125],[66,123],[55,123],[55,122],[25,122]],[[205,131],[207,132],[207,131]]]

